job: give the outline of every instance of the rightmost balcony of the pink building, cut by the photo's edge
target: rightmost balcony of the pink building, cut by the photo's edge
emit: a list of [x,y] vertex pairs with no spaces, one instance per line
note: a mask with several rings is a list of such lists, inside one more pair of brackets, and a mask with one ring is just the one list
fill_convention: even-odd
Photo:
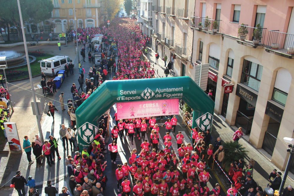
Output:
[[268,31],[265,51],[294,58],[294,35],[273,30]]

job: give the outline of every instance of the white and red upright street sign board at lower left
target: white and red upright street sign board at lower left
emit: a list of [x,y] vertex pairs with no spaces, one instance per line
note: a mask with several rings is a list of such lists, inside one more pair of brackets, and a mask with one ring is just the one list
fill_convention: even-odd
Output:
[[19,141],[19,135],[16,128],[16,123],[4,123],[5,132],[7,135],[7,140],[9,144],[9,149],[11,151],[20,151],[21,144]]

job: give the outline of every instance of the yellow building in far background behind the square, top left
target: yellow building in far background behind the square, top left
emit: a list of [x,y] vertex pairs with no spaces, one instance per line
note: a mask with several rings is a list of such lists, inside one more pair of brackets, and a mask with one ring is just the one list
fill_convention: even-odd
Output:
[[76,25],[80,28],[97,27],[104,24],[103,3],[101,0],[52,0],[54,9],[52,18],[44,21],[44,32],[66,32],[74,29],[74,6]]

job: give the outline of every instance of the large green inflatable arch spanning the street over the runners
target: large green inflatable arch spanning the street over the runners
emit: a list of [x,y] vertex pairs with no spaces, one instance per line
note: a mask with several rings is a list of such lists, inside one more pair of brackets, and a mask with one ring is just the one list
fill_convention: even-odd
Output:
[[212,127],[214,102],[188,76],[105,81],[76,110],[79,149],[88,147],[98,131],[98,119],[114,103],[182,98],[193,108],[193,127]]

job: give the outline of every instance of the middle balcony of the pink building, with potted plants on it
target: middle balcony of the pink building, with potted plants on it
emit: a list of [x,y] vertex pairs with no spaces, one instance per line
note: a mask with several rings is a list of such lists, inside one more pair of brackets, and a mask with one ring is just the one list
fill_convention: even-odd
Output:
[[253,48],[263,47],[266,28],[239,25],[237,42]]

